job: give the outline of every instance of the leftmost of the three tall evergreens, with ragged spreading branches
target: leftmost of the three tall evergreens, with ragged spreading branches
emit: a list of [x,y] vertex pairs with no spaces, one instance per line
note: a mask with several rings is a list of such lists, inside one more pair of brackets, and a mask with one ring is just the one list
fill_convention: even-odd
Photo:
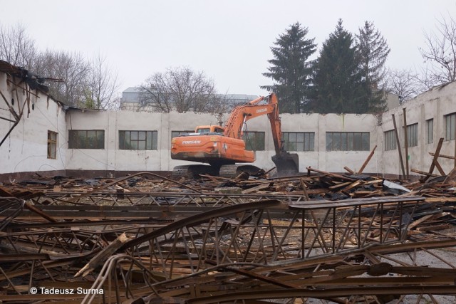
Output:
[[280,111],[299,113],[306,110],[311,83],[311,62],[309,57],[315,53],[315,38],[306,39],[307,28],[298,22],[291,25],[286,33],[281,34],[271,47],[274,59],[264,76],[272,78],[274,85],[261,88],[272,91],[279,96]]

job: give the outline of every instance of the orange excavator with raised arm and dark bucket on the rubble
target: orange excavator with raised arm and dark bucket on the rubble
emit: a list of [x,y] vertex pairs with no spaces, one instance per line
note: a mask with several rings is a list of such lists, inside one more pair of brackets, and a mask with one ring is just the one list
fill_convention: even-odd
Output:
[[[182,134],[172,139],[171,158],[203,162],[177,166],[172,171],[173,177],[197,177],[199,174],[211,174],[220,177],[237,177],[242,172],[254,174],[259,168],[253,166],[255,154],[246,150],[242,137],[247,120],[268,115],[276,154],[272,161],[276,164],[276,176],[299,173],[298,154],[284,150],[281,140],[281,122],[279,105],[274,93],[261,96],[245,105],[234,108],[227,125],[203,125],[196,127],[194,133]],[[241,164],[239,164],[241,163]]]

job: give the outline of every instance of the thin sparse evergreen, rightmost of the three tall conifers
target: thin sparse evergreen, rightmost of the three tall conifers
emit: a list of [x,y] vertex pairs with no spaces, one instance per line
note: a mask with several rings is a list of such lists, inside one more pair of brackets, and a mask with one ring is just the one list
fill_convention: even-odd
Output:
[[379,85],[385,78],[385,61],[390,53],[388,43],[373,23],[366,21],[359,28],[356,43],[360,56],[361,73],[368,98],[368,110],[379,112],[385,110],[385,94]]

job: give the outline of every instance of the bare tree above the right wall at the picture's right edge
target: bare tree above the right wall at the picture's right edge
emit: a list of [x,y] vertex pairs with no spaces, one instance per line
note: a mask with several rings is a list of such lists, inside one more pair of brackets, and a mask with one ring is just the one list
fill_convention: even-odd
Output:
[[424,33],[421,56],[429,63],[425,83],[437,85],[456,80],[456,21],[452,16],[437,21],[437,31]]

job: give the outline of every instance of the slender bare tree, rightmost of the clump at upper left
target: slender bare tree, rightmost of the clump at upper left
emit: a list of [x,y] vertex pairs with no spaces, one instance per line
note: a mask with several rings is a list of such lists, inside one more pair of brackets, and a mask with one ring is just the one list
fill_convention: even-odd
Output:
[[88,83],[84,90],[85,108],[117,108],[119,89],[117,73],[112,73],[106,58],[98,53],[90,65]]

